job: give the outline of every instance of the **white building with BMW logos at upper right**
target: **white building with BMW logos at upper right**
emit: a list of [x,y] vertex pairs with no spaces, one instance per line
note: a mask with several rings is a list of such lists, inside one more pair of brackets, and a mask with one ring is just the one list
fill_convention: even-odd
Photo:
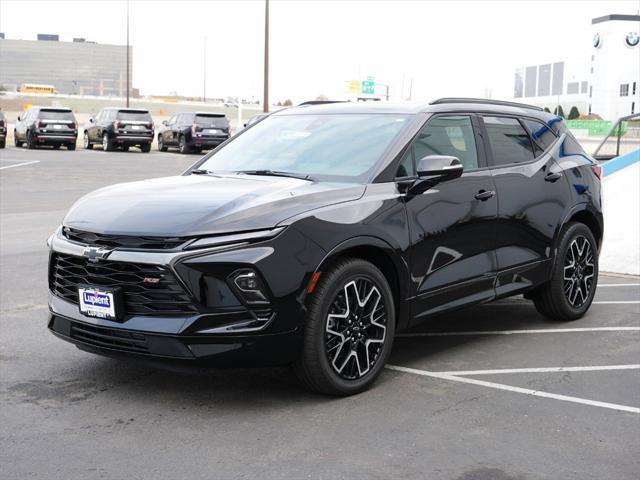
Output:
[[640,111],[640,15],[606,15],[591,21],[590,53],[519,67],[514,98],[615,120]]

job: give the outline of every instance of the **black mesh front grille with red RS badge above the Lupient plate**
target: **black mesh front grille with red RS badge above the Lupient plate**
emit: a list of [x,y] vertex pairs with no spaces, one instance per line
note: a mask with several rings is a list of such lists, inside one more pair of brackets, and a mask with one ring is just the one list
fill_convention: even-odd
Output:
[[[145,279],[160,279],[148,283]],[[157,265],[102,260],[54,253],[49,270],[49,288],[78,304],[78,286],[120,287],[126,315],[177,315],[197,313],[197,308],[171,271]]]

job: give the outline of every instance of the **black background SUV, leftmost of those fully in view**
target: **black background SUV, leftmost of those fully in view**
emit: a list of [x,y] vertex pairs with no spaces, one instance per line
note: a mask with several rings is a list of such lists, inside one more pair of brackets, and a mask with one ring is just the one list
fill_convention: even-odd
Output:
[[64,145],[68,150],[75,150],[78,124],[68,108],[31,107],[18,116],[13,138],[16,147],[26,144],[29,149],[40,145],[60,148]]

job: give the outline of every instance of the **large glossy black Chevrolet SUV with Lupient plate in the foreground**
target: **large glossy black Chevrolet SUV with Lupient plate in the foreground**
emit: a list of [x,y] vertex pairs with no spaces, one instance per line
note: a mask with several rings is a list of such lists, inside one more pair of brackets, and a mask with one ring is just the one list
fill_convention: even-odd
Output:
[[524,294],[582,317],[600,173],[526,105],[282,110],[182,176],[80,199],[49,240],[49,328],[103,355],[293,364],[353,394],[430,315]]

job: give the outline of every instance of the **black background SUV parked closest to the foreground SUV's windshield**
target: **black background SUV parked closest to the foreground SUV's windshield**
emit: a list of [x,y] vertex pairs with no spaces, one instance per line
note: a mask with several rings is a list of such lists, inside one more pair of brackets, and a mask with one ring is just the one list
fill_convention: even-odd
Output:
[[224,113],[178,113],[162,122],[158,131],[158,150],[178,147],[180,153],[215,148],[229,138],[229,120]]

